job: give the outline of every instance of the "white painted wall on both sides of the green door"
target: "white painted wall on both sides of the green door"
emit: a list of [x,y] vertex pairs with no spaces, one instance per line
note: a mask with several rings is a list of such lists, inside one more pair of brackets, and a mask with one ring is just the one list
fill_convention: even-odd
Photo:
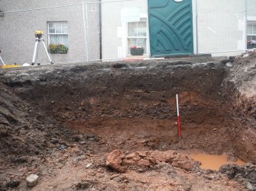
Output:
[[[256,16],[256,1],[248,1],[248,18]],[[147,13],[147,0],[109,3],[102,6],[103,59],[116,59],[122,50],[122,28],[120,10],[140,7],[141,14]],[[198,7],[198,51],[213,53],[212,56],[233,56],[246,48],[245,1],[242,0],[197,0]],[[118,30],[119,29],[119,30]],[[119,31],[119,32],[117,32]],[[118,35],[117,35],[118,33]],[[193,0],[194,53],[196,53],[196,0]],[[235,52],[226,52],[234,50]],[[237,52],[236,52],[237,51]],[[215,53],[223,52],[223,53]]]

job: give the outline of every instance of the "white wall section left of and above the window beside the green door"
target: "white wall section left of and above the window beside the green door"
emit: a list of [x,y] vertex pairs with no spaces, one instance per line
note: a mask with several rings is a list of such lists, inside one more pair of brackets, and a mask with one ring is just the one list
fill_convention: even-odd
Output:
[[124,8],[139,8],[140,16],[147,17],[147,0],[102,3],[102,59],[127,55],[127,23],[122,19]]

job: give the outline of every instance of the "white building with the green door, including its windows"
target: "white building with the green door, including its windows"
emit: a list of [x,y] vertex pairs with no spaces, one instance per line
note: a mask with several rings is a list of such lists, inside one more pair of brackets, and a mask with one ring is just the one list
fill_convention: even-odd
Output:
[[[111,10],[111,12],[109,12]],[[232,56],[253,48],[254,0],[137,0],[102,5],[103,59],[211,53]],[[109,38],[111,37],[111,38]]]

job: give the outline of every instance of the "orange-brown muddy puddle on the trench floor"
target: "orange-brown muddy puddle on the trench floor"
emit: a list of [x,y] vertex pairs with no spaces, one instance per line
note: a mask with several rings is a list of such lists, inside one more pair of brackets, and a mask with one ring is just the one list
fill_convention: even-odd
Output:
[[201,169],[207,170],[219,170],[224,164],[238,164],[239,166],[245,164],[244,161],[238,159],[237,161],[229,161],[228,156],[226,154],[222,155],[214,155],[214,154],[204,154],[204,153],[197,153],[197,154],[190,154],[190,156],[195,160],[201,162]]

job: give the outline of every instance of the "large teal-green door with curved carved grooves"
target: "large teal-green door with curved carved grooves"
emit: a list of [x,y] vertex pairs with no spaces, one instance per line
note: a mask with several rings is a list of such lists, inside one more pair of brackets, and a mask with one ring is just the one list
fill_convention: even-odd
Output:
[[193,54],[192,0],[148,0],[151,56]]

